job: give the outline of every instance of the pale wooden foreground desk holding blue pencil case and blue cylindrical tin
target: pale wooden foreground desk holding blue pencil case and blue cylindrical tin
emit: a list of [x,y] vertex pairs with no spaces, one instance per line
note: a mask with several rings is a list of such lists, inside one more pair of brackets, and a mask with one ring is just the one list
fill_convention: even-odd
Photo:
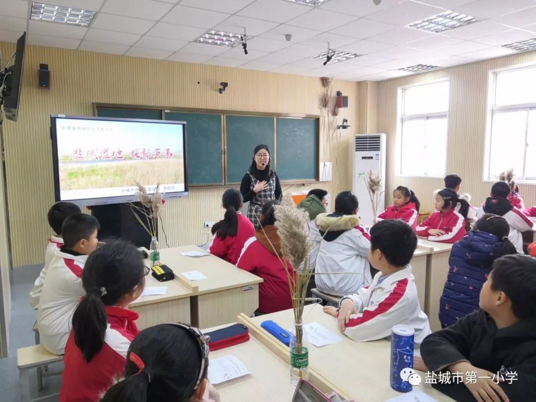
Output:
[[[238,317],[238,321],[250,327],[252,333],[260,332],[271,337],[260,327],[263,321],[269,319],[286,329],[291,329],[294,324],[292,310],[279,311],[255,318],[243,315]],[[303,311],[303,323],[311,322],[317,322],[333,333],[340,334],[337,320],[333,316],[325,314],[319,304],[306,306]],[[341,393],[358,401],[384,402],[386,399],[399,396],[400,393],[391,389],[390,385],[391,343],[386,340],[358,342],[347,338],[344,334],[341,336],[343,336],[344,341],[337,344],[323,347],[309,345],[310,370],[324,378],[325,381],[334,384]],[[272,337],[272,339],[279,348],[279,352],[276,353],[280,353],[281,356],[286,355],[288,361],[288,348],[276,338]],[[414,386],[413,389],[425,392],[438,402],[453,401],[433,389],[431,385],[425,384],[426,375],[420,374],[423,382],[421,386]]]

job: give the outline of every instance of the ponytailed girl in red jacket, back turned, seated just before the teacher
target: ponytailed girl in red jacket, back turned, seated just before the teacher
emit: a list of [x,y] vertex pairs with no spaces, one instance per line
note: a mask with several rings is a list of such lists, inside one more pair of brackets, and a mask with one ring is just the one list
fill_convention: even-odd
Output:
[[251,221],[240,212],[243,204],[239,190],[225,190],[221,200],[225,216],[212,227],[212,234],[215,234],[215,237],[210,253],[235,265],[244,243],[255,235],[255,228]]

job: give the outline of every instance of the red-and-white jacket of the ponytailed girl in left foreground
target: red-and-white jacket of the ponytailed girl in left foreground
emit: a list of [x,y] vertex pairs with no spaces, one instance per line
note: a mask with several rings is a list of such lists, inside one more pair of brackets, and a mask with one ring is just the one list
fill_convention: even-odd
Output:
[[98,402],[102,393],[125,371],[126,352],[138,334],[138,313],[124,307],[106,306],[108,327],[100,351],[86,362],[71,332],[63,362],[59,402]]

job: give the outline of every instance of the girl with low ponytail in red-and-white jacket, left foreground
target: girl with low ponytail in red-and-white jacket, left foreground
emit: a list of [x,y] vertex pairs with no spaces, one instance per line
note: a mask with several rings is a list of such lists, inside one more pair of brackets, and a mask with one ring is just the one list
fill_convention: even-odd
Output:
[[59,402],[94,402],[125,368],[126,351],[138,334],[138,313],[127,306],[145,285],[143,257],[136,246],[117,240],[87,259],[85,296],[72,317],[65,347]]

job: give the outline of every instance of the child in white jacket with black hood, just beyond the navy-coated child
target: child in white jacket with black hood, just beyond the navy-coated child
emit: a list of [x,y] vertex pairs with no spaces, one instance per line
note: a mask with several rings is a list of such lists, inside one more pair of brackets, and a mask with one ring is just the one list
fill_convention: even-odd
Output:
[[488,197],[486,202],[479,208],[477,216],[481,218],[486,213],[492,213],[506,219],[510,225],[508,239],[516,247],[517,252],[523,254],[522,232],[531,230],[533,223],[523,212],[510,204],[507,199],[509,193],[510,186],[508,183],[496,182],[492,185],[491,197]]

